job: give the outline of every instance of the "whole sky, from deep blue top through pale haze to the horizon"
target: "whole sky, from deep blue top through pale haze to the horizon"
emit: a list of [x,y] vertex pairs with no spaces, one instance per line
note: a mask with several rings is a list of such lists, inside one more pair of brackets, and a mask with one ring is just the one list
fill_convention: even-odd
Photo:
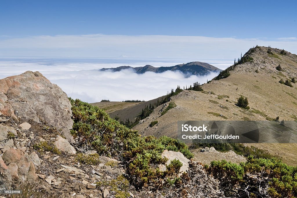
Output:
[[[207,59],[211,58],[211,53],[217,53],[219,55],[213,55],[213,59],[232,59],[250,47],[262,44],[296,53],[296,7],[296,1],[272,0],[1,1],[0,56],[172,58],[180,55],[178,58]],[[109,37],[103,44],[102,40],[98,40],[101,34]],[[77,38],[70,35],[95,35],[96,38],[81,39],[78,43]],[[170,45],[162,43],[163,38],[160,37],[142,37],[140,41],[138,35],[171,36],[166,38]],[[127,37],[122,36],[129,36],[132,44],[129,45]],[[213,44],[206,45],[204,37],[212,38]],[[126,42],[122,43],[121,39]],[[185,39],[187,45],[194,43],[195,46],[187,49],[186,45],[181,44]],[[177,40],[180,42],[174,44]],[[90,45],[97,43],[97,48],[85,42]],[[30,43],[34,43],[34,46]],[[73,43],[77,45],[73,46]],[[154,48],[150,46],[151,43],[159,43],[160,46],[155,45]],[[149,50],[146,51],[147,46]],[[200,50],[197,49],[199,47]],[[125,50],[127,48],[136,50]],[[161,49],[158,51],[158,48]],[[195,49],[197,52],[191,54]],[[143,54],[140,53],[142,50]],[[150,53],[152,51],[155,53]],[[205,57],[205,53],[209,56]]]

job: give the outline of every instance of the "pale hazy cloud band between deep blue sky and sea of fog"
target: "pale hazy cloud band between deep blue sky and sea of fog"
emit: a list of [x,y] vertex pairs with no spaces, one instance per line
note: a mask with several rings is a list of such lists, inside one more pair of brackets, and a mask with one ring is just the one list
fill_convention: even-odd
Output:
[[237,39],[162,35],[56,35],[0,39],[0,56],[233,59],[253,46],[297,53],[296,38]]

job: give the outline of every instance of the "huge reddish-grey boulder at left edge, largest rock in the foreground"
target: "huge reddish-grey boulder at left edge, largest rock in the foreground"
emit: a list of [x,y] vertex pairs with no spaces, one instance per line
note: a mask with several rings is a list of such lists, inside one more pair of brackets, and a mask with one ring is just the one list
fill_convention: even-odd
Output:
[[40,72],[27,71],[0,80],[0,115],[22,116],[37,123],[46,123],[61,130],[68,141],[74,142],[71,104],[67,94],[52,84]]

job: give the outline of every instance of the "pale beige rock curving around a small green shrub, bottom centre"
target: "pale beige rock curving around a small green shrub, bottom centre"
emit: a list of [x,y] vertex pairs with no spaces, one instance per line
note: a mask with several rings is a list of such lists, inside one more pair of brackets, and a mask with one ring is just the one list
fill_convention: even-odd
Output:
[[166,157],[168,158],[168,161],[166,162],[166,164],[170,164],[170,162],[173,159],[178,159],[179,161],[181,161],[181,163],[183,164],[182,167],[179,170],[179,176],[182,175],[183,172],[188,172],[189,171],[189,159],[187,159],[181,152],[175,152],[175,151],[168,151],[168,150],[164,150],[162,153],[162,157]]

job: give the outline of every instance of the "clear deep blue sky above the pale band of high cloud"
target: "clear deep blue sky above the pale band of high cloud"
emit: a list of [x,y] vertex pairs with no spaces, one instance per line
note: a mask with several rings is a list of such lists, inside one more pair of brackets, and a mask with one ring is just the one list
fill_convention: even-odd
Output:
[[297,1],[1,1],[0,36],[296,37]]

